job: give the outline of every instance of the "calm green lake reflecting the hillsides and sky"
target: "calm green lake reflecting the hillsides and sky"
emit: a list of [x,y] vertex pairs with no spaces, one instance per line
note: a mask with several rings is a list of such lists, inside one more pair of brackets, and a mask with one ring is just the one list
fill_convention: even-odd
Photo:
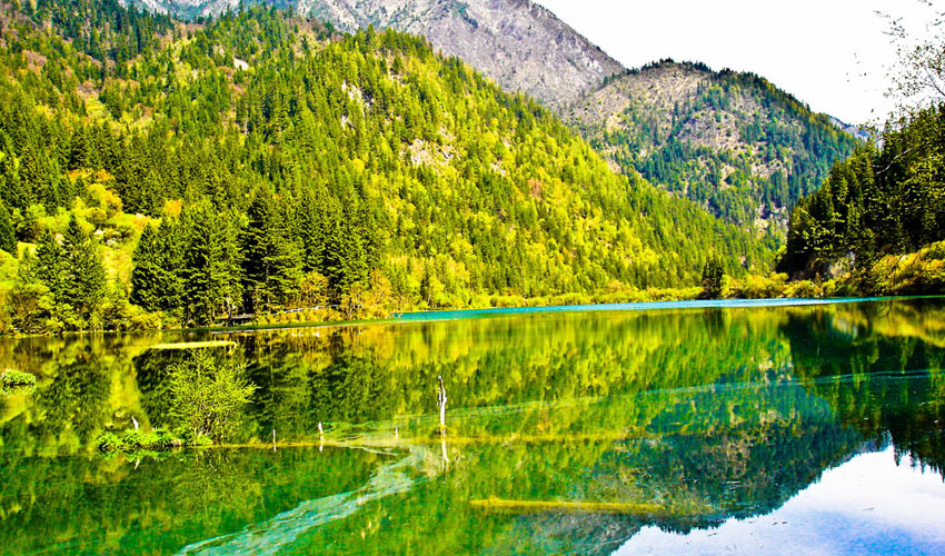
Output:
[[[4,339],[0,552],[945,553],[945,299],[608,309]],[[200,340],[233,446],[98,454]]]

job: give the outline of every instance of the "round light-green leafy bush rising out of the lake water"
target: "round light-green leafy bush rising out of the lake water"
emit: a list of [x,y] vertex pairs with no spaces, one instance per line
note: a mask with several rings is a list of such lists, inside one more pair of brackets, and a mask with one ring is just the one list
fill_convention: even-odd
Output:
[[170,416],[188,438],[220,443],[233,434],[256,390],[243,375],[241,367],[218,364],[208,349],[193,350],[170,368]]

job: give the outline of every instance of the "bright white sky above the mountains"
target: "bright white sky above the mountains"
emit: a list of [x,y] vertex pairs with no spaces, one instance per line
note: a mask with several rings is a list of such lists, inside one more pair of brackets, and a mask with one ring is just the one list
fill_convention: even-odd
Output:
[[628,68],[673,58],[757,73],[847,123],[881,120],[896,44],[881,11],[924,33],[922,0],[536,0]]

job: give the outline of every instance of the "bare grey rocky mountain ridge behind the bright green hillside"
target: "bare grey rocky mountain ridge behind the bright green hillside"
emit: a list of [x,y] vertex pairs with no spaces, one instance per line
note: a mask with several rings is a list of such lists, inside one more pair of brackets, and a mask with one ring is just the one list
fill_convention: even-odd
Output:
[[[132,0],[182,17],[219,14],[237,0]],[[426,37],[507,91],[564,108],[623,66],[529,0],[265,0],[354,32],[374,26]]]

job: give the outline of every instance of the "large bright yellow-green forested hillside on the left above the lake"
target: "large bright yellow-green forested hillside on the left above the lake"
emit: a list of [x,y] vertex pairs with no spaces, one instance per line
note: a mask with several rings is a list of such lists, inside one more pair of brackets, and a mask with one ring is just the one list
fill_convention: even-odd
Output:
[[0,248],[19,254],[0,270],[19,330],[627,295],[695,285],[708,256],[735,275],[769,257],[420,38],[263,8],[185,24],[113,0],[2,18]]

